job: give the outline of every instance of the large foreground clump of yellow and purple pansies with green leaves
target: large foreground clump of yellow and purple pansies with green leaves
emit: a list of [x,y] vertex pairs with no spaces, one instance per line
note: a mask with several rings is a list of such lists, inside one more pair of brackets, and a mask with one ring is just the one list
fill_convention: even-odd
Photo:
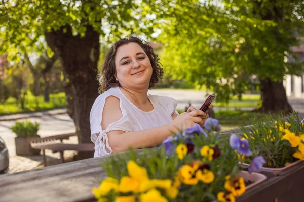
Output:
[[218,121],[209,118],[205,130],[194,125],[158,149],[113,155],[102,165],[108,178],[93,193],[98,201],[233,202],[246,189],[239,158],[251,151],[235,134],[230,141],[219,137]]

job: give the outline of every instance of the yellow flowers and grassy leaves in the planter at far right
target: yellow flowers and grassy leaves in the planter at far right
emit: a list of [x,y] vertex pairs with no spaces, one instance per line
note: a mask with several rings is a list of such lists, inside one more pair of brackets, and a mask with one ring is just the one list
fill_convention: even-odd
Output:
[[304,123],[297,113],[289,114],[285,121],[282,115],[253,117],[252,123],[251,128],[241,127],[241,137],[252,148],[252,155],[243,156],[242,162],[249,163],[252,157],[260,155],[265,167],[280,168],[304,160]]

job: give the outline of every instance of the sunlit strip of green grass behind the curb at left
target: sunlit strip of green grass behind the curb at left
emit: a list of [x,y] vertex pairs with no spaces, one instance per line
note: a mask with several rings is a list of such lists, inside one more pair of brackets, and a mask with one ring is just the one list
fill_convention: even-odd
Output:
[[44,98],[42,95],[37,97],[37,99],[39,101],[38,107],[36,107],[35,97],[31,93],[28,93],[24,102],[25,109],[22,110],[20,103],[17,105],[16,99],[10,97],[6,100],[5,103],[0,104],[0,115],[39,112],[66,107],[64,92],[50,94],[50,102],[44,102]]

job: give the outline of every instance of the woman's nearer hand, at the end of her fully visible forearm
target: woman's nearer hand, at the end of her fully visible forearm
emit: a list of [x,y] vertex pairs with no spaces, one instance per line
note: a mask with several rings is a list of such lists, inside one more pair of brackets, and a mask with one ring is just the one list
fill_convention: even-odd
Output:
[[193,110],[191,112],[183,112],[180,115],[178,115],[174,121],[172,122],[172,125],[175,128],[191,128],[194,124],[200,124],[202,122],[201,117],[205,117],[205,112],[201,110]]

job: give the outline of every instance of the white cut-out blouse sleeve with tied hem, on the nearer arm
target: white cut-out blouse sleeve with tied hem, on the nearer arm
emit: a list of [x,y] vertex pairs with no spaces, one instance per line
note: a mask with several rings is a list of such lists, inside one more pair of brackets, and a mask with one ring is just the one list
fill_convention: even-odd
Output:
[[112,148],[108,142],[108,132],[113,130],[122,130],[125,132],[132,131],[132,124],[128,119],[126,110],[123,108],[122,100],[117,96],[116,97],[120,99],[120,109],[123,115],[122,118],[116,122],[111,123],[106,129],[103,129],[101,127],[102,112],[105,105],[105,99],[108,96],[100,95],[100,97],[95,100],[90,112],[91,140],[95,144],[94,157],[106,156],[112,153]]

